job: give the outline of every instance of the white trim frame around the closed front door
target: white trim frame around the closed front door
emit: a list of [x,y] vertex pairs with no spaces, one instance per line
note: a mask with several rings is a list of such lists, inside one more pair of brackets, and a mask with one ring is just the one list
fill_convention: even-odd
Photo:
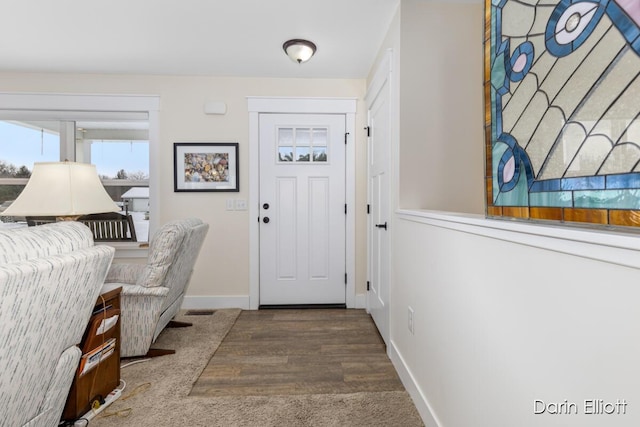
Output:
[[356,98],[247,97],[249,109],[249,308],[260,305],[260,114],[344,114],[347,146],[345,267],[347,308],[356,306]]

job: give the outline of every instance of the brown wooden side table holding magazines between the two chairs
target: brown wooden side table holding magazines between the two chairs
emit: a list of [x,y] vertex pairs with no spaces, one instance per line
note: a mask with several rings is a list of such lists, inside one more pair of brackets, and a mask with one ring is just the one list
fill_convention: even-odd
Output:
[[73,421],[97,409],[120,384],[121,291],[121,287],[107,291],[96,301],[78,346],[82,358],[62,412],[64,420]]

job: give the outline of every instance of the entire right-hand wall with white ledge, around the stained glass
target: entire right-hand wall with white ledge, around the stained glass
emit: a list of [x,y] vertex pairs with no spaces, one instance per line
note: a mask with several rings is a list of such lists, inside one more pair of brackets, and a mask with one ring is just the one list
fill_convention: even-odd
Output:
[[[640,425],[637,235],[485,219],[482,6],[403,0],[394,22],[389,354],[425,424]],[[570,415],[534,413],[565,399]],[[585,414],[591,399],[626,414]]]

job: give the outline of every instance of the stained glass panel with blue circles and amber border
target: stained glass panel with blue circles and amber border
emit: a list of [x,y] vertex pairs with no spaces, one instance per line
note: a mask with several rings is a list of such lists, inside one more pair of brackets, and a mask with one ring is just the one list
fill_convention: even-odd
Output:
[[487,215],[637,226],[640,1],[485,0],[485,27]]

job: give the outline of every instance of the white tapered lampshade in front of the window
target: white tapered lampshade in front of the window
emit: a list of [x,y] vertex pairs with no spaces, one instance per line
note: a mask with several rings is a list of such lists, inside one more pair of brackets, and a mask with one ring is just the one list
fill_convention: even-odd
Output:
[[94,165],[45,162],[33,165],[24,190],[2,214],[60,217],[118,211]]

